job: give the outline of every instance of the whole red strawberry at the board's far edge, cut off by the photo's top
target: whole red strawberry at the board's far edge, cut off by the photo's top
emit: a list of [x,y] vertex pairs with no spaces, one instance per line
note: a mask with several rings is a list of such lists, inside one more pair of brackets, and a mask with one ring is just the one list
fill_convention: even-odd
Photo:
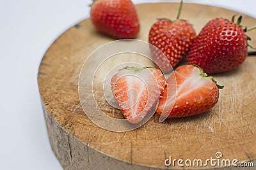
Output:
[[140,31],[136,9],[131,0],[97,0],[91,6],[92,23],[114,38],[135,38]]

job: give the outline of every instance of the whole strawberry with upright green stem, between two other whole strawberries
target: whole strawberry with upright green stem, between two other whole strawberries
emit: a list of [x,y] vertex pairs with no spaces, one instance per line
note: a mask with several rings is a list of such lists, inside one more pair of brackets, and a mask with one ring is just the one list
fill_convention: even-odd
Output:
[[[149,32],[148,42],[161,50],[169,60],[172,67],[175,67],[188,53],[189,47],[196,38],[195,29],[185,20],[179,20],[182,1],[180,2],[177,20],[160,19],[154,23]],[[159,57],[159,52],[152,50],[152,58],[157,66],[166,69],[168,62],[164,55]]]

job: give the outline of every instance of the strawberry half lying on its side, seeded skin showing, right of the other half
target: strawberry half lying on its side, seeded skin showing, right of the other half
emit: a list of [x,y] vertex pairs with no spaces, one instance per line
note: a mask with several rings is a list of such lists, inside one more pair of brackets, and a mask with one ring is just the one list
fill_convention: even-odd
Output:
[[222,88],[198,66],[178,67],[170,74],[157,106],[160,122],[166,117],[190,117],[210,110],[217,103]]

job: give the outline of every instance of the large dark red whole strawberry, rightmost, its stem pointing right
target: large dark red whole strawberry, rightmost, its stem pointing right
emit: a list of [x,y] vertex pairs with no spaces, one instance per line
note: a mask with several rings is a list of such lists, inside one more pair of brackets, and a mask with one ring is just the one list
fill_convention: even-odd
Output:
[[196,37],[188,55],[188,64],[196,64],[205,73],[235,69],[247,56],[247,36],[239,26],[224,18],[208,22]]

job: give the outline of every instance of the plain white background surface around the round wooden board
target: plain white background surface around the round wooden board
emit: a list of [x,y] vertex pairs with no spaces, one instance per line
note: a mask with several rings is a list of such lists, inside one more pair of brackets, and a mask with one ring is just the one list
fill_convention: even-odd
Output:
[[[188,2],[224,6],[256,17],[252,0],[184,0]],[[62,169],[47,137],[36,76],[45,50],[70,25],[89,17],[90,3],[0,0],[0,169]]]

